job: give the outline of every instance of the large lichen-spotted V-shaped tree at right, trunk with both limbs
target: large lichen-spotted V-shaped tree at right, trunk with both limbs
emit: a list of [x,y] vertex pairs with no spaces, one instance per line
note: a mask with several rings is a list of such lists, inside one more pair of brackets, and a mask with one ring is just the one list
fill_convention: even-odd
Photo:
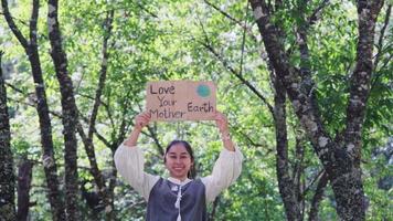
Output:
[[365,208],[360,168],[361,129],[372,71],[374,27],[382,1],[358,1],[358,63],[351,80],[344,144],[333,141],[328,136],[312,105],[311,96],[302,91],[306,82],[288,62],[284,45],[278,38],[279,28],[272,23],[272,11],[267,2],[251,0],[251,4],[269,61],[285,85],[295,113],[328,173],[338,203],[338,214],[342,220],[364,220]]

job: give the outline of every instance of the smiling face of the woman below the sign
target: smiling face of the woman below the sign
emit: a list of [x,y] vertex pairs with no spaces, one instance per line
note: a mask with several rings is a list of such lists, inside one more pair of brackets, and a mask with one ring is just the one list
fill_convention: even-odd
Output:
[[182,144],[172,145],[166,155],[166,167],[171,177],[185,180],[192,166],[190,154]]

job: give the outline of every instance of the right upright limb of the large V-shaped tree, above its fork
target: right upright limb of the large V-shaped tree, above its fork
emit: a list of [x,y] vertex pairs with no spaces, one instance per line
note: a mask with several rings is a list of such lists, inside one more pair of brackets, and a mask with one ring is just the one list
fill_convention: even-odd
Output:
[[351,160],[354,160],[357,166],[360,165],[361,131],[373,71],[372,57],[375,22],[382,4],[382,0],[358,1],[359,41],[357,65],[350,81],[351,86],[347,106],[347,125],[344,129],[346,148]]

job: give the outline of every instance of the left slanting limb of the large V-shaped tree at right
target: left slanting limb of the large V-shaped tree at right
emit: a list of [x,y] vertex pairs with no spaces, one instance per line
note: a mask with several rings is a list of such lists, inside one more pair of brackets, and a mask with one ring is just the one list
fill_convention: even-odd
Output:
[[331,150],[329,147],[332,146],[331,138],[325,131],[309,95],[301,91],[304,82],[301,82],[299,73],[289,64],[289,59],[280,41],[279,28],[272,23],[270,12],[265,1],[251,0],[251,4],[275,73],[279,76],[279,81],[283,81],[294,110],[314,144],[317,155],[322,164],[327,165]]

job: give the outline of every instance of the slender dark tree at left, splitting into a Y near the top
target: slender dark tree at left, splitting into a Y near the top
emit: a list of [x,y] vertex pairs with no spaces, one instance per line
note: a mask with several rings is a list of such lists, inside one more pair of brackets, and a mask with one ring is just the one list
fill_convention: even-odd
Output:
[[36,22],[39,17],[39,0],[33,1],[33,10],[30,20],[30,40],[28,41],[15,23],[9,12],[8,1],[1,0],[4,18],[8,25],[12,30],[13,34],[17,36],[18,41],[23,46],[30,62],[32,70],[32,75],[35,85],[35,95],[36,95],[36,112],[39,114],[40,120],[40,130],[41,130],[41,145],[43,148],[42,161],[44,162],[44,172],[46,178],[46,186],[49,188],[47,198],[51,204],[52,219],[53,220],[64,220],[64,207],[61,198],[60,183],[57,177],[57,166],[54,158],[53,151],[53,138],[52,138],[52,124],[49,114],[49,106],[45,93],[45,84],[42,76],[41,61],[38,51],[36,42]]

